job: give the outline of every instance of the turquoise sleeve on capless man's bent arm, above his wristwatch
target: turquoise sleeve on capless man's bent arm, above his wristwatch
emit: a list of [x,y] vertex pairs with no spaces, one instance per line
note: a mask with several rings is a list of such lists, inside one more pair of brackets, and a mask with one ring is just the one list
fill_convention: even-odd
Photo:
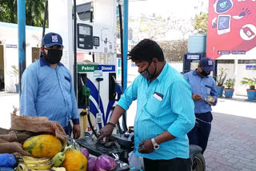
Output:
[[170,105],[177,119],[167,129],[174,137],[184,136],[194,127],[194,101],[190,85],[176,81],[170,85]]

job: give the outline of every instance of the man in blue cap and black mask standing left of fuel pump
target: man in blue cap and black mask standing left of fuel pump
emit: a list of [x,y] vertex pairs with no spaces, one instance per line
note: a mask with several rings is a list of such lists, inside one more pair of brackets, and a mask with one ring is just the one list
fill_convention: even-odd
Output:
[[42,56],[22,74],[21,114],[58,121],[74,138],[80,137],[78,105],[70,70],[60,62],[62,37],[49,33],[42,38]]

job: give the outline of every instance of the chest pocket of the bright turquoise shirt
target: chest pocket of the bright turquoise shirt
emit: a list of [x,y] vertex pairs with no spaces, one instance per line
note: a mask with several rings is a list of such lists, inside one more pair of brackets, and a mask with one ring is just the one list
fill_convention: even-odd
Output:
[[146,103],[146,112],[152,117],[158,117],[159,109],[162,105],[162,101],[158,100],[153,94],[150,96]]

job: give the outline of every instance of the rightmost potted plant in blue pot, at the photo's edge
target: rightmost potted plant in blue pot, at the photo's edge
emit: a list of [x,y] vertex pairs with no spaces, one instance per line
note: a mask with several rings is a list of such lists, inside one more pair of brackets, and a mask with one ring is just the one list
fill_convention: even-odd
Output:
[[250,89],[246,89],[249,101],[254,101],[256,97],[256,78],[242,78],[242,85],[248,85]]

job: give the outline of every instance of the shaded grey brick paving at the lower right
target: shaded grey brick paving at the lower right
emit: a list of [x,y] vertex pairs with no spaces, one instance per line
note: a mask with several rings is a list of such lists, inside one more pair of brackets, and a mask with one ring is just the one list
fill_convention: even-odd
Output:
[[256,170],[256,119],[213,114],[210,141],[204,154],[206,170]]

